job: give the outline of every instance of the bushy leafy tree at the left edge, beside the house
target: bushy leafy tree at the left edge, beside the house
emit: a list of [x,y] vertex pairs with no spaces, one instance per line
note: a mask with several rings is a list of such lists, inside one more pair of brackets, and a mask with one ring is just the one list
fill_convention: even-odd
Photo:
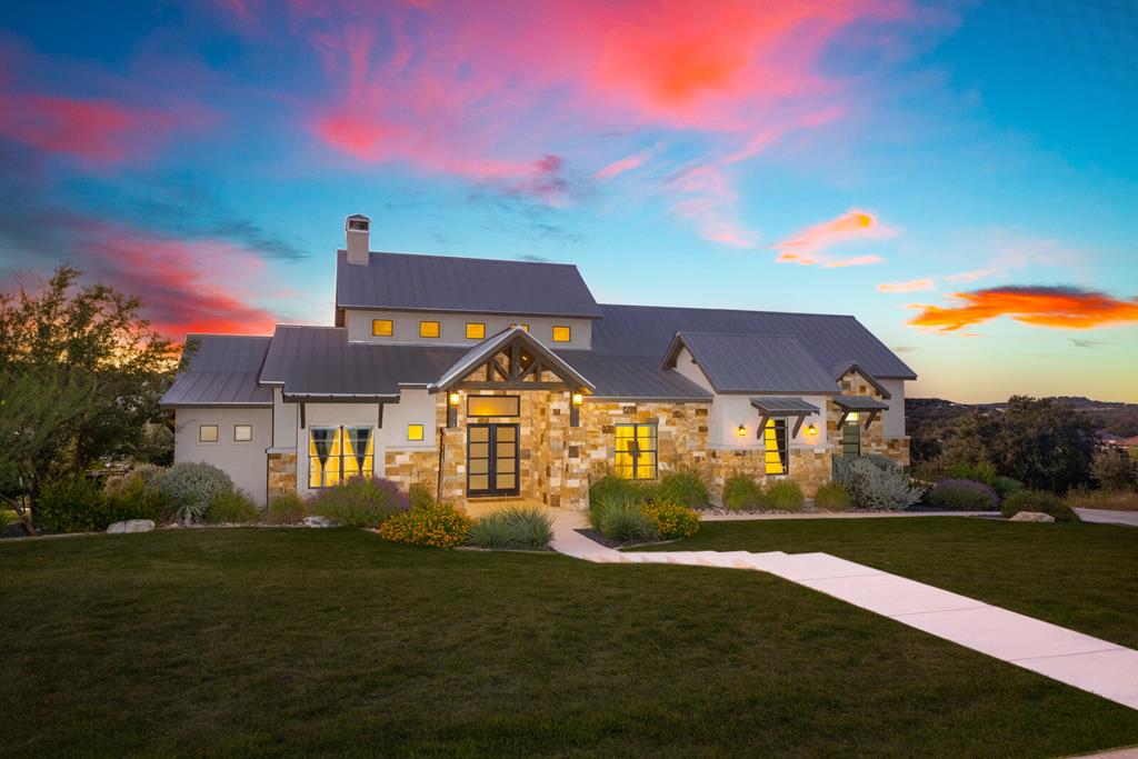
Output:
[[176,365],[141,300],[81,275],[63,264],[38,291],[0,295],[0,486],[33,517],[50,478],[143,446]]

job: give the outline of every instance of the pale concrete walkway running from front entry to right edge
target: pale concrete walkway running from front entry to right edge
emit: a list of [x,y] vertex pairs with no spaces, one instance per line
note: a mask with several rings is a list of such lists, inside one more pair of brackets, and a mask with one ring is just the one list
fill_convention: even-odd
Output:
[[827,553],[620,552],[575,531],[582,512],[555,510],[553,548],[595,563],[764,571],[1052,679],[1138,709],[1138,651]]

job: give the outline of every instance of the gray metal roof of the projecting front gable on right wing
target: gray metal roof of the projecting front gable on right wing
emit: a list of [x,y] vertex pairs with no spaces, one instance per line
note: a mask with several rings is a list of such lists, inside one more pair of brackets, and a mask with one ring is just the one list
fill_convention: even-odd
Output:
[[665,354],[675,366],[681,347],[717,393],[838,393],[830,374],[792,337],[679,332]]

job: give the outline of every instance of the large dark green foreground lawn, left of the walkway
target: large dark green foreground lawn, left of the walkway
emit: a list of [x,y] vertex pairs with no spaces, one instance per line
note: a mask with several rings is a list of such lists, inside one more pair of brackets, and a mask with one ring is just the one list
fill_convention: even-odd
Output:
[[164,530],[0,544],[0,597],[5,756],[1138,743],[1138,711],[760,572]]

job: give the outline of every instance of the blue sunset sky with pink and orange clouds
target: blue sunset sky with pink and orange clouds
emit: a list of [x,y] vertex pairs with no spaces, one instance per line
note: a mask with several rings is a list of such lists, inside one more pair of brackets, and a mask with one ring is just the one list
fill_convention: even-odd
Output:
[[1138,402],[1138,3],[0,8],[0,277],[164,335],[330,324],[372,249],[843,313],[912,396]]

